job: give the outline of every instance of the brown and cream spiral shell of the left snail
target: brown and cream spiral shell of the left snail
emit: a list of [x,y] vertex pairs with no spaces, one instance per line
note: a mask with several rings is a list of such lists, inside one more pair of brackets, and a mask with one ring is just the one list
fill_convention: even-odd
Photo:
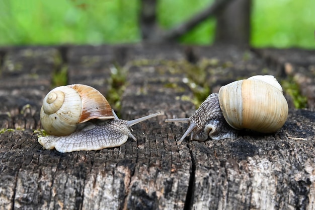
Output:
[[50,135],[73,133],[77,125],[91,119],[114,119],[111,106],[96,89],[81,84],[60,86],[43,100],[40,120]]

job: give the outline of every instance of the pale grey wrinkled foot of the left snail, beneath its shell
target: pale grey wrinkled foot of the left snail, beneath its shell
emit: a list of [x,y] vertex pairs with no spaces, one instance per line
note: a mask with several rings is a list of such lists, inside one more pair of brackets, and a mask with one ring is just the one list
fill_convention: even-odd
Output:
[[42,136],[38,142],[44,149],[55,148],[60,153],[101,150],[118,147],[126,143],[128,136],[136,140],[128,129],[128,121],[121,119],[106,120],[102,123],[87,123],[82,130],[68,136]]

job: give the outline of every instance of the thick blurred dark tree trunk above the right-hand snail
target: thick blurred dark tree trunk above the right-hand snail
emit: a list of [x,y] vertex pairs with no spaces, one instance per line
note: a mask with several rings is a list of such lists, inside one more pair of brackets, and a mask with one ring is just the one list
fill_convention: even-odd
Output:
[[251,0],[234,0],[226,5],[216,16],[215,43],[248,46],[250,17]]

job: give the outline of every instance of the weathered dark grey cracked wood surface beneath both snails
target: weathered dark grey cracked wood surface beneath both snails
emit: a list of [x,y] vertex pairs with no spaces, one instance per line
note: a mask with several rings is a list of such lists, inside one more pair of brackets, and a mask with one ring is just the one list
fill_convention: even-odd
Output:
[[[0,209],[315,209],[314,51],[123,45],[3,48],[0,56],[0,127],[14,129],[0,134]],[[121,66],[121,118],[164,115],[134,125],[137,142],[121,147],[43,150],[34,132],[41,100],[64,66],[69,84],[104,95]],[[198,68],[203,75],[192,76]],[[289,117],[277,133],[177,144],[186,125],[164,120],[195,111],[185,78],[217,92],[255,74],[292,76],[309,109],[294,109],[286,95]]]

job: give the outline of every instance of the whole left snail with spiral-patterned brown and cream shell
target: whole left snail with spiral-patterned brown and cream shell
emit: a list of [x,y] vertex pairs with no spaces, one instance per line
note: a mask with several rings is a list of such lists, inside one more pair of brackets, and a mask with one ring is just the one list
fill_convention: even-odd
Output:
[[160,112],[130,121],[118,119],[98,90],[81,84],[60,86],[43,100],[40,120],[50,136],[39,137],[38,142],[61,153],[117,147],[128,137],[136,141],[130,126],[157,115]]

